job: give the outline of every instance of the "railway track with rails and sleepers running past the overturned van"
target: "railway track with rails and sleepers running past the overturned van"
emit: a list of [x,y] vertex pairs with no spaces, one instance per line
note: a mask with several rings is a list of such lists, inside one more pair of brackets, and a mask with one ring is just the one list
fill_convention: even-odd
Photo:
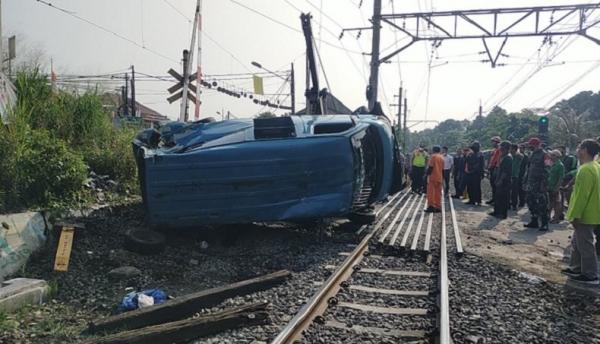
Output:
[[424,195],[394,195],[272,343],[451,343],[448,247],[463,249],[452,198],[443,203],[442,213],[425,213]]

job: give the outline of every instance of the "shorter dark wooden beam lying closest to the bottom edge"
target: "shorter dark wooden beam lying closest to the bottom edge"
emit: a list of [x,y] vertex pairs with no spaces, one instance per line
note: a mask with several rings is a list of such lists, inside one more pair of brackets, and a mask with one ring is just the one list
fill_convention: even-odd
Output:
[[[224,330],[264,324],[269,315],[267,303],[228,309],[199,317],[175,322],[163,323],[126,332],[117,333],[101,339],[89,341],[89,344],[170,344],[189,341],[219,333]],[[150,309],[155,308],[151,307]]]

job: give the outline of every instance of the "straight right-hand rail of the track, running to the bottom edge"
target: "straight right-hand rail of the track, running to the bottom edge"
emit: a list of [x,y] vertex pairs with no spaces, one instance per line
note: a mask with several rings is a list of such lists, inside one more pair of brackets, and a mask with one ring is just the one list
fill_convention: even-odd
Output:
[[450,344],[450,301],[448,297],[448,256],[446,251],[446,208],[442,197],[442,233],[440,238],[440,344]]

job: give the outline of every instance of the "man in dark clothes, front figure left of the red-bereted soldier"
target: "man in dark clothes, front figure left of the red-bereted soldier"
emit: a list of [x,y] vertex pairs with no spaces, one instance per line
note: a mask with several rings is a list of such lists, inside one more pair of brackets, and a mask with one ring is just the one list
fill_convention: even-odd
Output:
[[496,178],[494,179],[496,183],[494,211],[489,215],[499,219],[506,219],[508,217],[508,208],[510,207],[513,158],[510,155],[510,142],[502,142],[499,148],[500,164],[497,167]]

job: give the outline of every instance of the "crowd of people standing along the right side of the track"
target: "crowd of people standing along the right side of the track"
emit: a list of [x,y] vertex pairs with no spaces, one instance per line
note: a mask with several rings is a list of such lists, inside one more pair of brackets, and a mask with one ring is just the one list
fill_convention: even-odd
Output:
[[455,190],[452,197],[481,205],[481,182],[487,176],[492,197],[486,203],[494,207],[489,215],[505,219],[509,210],[527,205],[531,219],[524,226],[542,232],[549,230],[549,224],[566,218],[575,232],[571,264],[563,273],[579,282],[598,284],[600,138],[582,141],[577,157],[568,154],[564,146],[545,147],[535,137],[515,144],[496,136],[491,143],[488,159],[477,141],[454,156],[440,146],[434,146],[431,155],[423,146],[413,151],[409,159],[411,187],[419,194],[426,190],[425,211],[441,211],[442,192],[449,193],[451,180]]

